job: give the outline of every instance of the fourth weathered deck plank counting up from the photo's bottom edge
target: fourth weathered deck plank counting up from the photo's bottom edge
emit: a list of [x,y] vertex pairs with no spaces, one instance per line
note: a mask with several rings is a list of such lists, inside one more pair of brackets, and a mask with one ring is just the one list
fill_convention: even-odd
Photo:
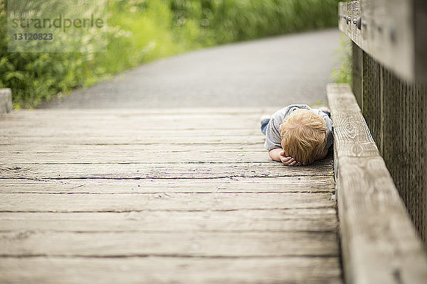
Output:
[[1,212],[130,212],[252,210],[334,207],[329,192],[318,193],[156,193],[1,194]]

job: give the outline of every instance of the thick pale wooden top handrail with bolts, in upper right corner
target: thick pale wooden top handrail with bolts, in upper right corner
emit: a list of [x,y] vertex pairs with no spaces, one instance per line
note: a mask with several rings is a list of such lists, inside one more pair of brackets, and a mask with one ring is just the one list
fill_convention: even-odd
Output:
[[339,29],[405,80],[427,80],[427,1],[339,2]]

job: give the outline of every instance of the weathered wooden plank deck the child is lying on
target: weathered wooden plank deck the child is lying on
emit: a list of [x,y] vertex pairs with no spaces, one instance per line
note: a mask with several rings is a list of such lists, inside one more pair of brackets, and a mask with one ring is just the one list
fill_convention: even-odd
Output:
[[0,283],[342,283],[332,157],[271,161],[274,110],[0,116]]

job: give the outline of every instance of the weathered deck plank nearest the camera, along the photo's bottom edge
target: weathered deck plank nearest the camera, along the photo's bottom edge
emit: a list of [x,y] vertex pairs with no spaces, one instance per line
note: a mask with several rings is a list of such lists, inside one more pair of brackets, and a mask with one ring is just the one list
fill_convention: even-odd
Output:
[[[2,258],[1,283],[342,283],[338,258]],[[135,273],[137,271],[137,273]]]

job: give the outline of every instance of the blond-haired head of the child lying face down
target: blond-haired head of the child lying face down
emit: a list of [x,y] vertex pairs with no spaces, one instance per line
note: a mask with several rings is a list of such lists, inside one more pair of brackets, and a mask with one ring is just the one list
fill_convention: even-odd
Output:
[[280,126],[282,148],[302,165],[313,163],[325,151],[326,124],[308,109],[295,109]]

